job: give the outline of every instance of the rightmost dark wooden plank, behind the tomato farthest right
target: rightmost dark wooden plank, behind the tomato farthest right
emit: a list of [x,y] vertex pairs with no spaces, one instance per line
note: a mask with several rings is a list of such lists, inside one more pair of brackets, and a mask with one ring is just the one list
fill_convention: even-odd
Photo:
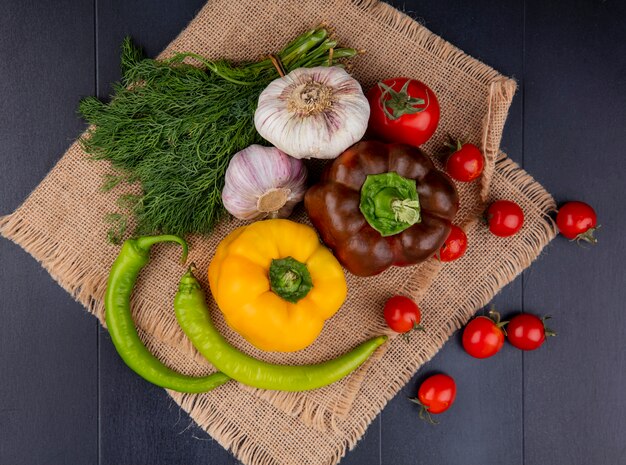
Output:
[[626,4],[529,1],[524,160],[599,243],[558,238],[524,278],[524,309],[559,333],[524,354],[526,463],[626,463]]

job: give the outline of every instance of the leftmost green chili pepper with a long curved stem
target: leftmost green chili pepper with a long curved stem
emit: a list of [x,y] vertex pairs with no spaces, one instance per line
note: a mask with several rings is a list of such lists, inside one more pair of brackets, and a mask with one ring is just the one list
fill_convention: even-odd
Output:
[[113,262],[107,283],[104,307],[106,323],[113,344],[126,365],[145,380],[180,392],[206,392],[227,382],[224,373],[208,376],[186,376],[171,370],[144,346],[137,334],[130,312],[130,296],[141,269],[150,259],[150,248],[157,242],[176,242],[187,259],[187,243],[177,236],[144,236],[124,242]]

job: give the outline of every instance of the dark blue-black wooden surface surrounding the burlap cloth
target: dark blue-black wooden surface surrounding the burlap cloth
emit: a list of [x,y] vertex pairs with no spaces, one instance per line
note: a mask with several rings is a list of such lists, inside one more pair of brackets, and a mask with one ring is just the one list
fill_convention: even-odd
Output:
[[[27,197],[84,128],[79,98],[109,93],[122,38],[155,55],[202,4],[0,2],[0,214]],[[518,80],[503,149],[558,201],[592,204],[603,228],[593,249],[558,238],[495,299],[505,316],[551,314],[557,338],[536,352],[507,345],[479,361],[453,337],[342,463],[626,463],[626,3],[395,6]],[[436,427],[406,400],[434,371],[458,385]],[[164,391],[131,373],[96,320],[5,240],[0,373],[2,465],[238,463]]]

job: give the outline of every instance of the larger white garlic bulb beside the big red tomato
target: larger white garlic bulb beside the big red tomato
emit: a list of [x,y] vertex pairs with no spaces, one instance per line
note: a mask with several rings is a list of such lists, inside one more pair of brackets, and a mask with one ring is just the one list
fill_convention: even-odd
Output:
[[297,68],[259,96],[254,125],[295,158],[337,158],[365,134],[370,106],[343,68]]

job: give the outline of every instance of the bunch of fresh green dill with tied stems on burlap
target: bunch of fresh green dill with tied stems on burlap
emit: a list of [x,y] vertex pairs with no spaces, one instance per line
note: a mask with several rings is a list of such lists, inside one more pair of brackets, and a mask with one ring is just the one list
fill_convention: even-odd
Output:
[[[103,187],[140,182],[143,191],[120,197],[124,213],[107,215],[109,239],[123,238],[129,214],[136,218],[135,234],[210,232],[224,212],[221,191],[232,155],[263,143],[254,111],[261,91],[279,76],[276,65],[289,72],[356,53],[337,48],[323,27],[301,35],[275,56],[241,64],[208,61],[193,53],[148,59],[127,38],[122,81],[114,86],[110,102],[88,97],[79,107],[92,125],[81,139],[83,149],[119,171]],[[186,58],[204,69],[183,63]]]

